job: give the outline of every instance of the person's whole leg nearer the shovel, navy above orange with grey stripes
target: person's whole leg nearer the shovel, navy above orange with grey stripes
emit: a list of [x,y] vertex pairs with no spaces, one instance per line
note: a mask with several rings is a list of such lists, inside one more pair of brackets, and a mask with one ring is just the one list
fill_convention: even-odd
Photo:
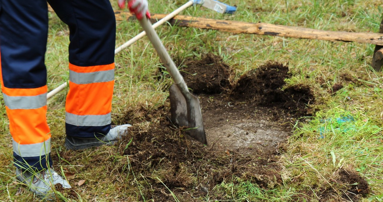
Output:
[[[110,1],[48,2],[70,30],[65,146],[83,149],[101,145],[102,141],[113,141],[116,137],[105,139],[111,129],[116,40],[116,21]],[[87,144],[88,138],[102,141]],[[76,146],[79,144],[82,146]]]

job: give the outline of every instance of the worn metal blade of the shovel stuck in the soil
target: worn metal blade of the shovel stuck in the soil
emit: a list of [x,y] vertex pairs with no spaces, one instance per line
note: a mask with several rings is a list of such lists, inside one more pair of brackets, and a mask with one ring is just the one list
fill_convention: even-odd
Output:
[[190,92],[182,94],[177,84],[170,86],[169,97],[172,122],[178,126],[187,126],[188,135],[206,145],[205,128],[198,98]]

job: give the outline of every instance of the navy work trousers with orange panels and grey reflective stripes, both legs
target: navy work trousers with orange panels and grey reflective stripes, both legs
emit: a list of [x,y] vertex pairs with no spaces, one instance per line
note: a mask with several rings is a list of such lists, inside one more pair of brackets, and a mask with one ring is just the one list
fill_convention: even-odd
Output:
[[[106,135],[111,126],[116,41],[111,4],[109,0],[48,2],[70,30],[66,135]],[[46,119],[47,33],[46,1],[0,0],[0,80],[14,164],[21,169],[52,166]]]

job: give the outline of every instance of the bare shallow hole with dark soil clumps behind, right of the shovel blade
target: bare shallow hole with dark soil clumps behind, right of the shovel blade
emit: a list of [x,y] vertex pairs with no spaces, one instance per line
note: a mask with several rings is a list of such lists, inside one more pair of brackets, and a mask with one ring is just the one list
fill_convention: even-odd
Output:
[[[278,154],[280,146],[291,134],[290,124],[282,124],[308,115],[308,105],[314,101],[308,86],[282,89],[291,74],[287,66],[277,62],[268,62],[246,72],[234,82],[226,82],[234,77],[233,71],[218,56],[203,55],[201,60],[190,59],[185,64],[185,69],[204,69],[203,74],[188,74],[185,82],[200,99],[206,137],[216,151]],[[205,79],[206,75],[209,80]],[[213,80],[225,81],[224,88],[216,85],[215,92],[220,94],[212,94],[213,91],[206,88],[212,76],[216,77]]]

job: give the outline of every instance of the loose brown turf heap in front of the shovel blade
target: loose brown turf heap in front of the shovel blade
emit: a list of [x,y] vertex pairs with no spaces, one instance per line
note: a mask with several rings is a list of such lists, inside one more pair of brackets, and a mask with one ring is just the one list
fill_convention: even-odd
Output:
[[174,188],[172,192],[182,201],[198,201],[206,195],[224,200],[231,195],[214,189],[222,183],[251,182],[262,189],[282,183],[277,157],[212,151],[210,146],[189,140],[182,128],[172,126],[167,110],[163,107],[148,111],[141,107],[128,110],[122,117],[139,123],[146,115],[144,119],[150,122],[133,128],[123,140],[127,146],[119,148],[121,155],[129,157],[131,169],[121,165],[119,172],[133,171],[139,176],[145,199],[174,201],[167,190]]

